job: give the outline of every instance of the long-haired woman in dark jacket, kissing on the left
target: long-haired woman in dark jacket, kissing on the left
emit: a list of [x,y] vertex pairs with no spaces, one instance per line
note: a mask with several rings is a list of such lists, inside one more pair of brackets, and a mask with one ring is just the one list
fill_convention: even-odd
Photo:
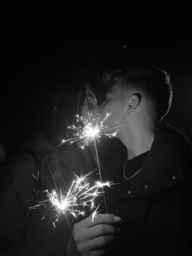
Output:
[[[70,92],[59,91],[56,97],[52,129],[55,145],[61,139],[72,137],[67,126],[74,122],[78,112],[76,105],[81,106],[84,114],[88,111],[85,93],[81,90],[80,94],[76,87],[73,90],[74,86],[69,87]],[[89,104],[93,103],[92,96],[89,95]],[[56,212],[49,204],[33,207],[47,200],[45,191],[55,189],[55,184],[62,192],[66,192],[74,179],[74,173],[86,174],[95,169],[93,153],[88,148],[82,150],[78,143],[51,148],[50,143],[45,142],[45,137],[40,137],[36,143],[33,139],[31,143],[25,143],[23,150],[11,157],[1,170],[1,255],[71,256],[74,251],[75,254],[83,254],[82,237],[89,242],[94,241],[94,244],[96,239],[97,246],[102,245],[103,241],[111,242],[116,232],[113,223],[119,220],[111,214],[98,214],[95,223],[90,216],[78,218],[76,222],[69,218],[70,224],[73,224],[75,248],[62,214],[57,222]],[[86,233],[81,227],[86,227]],[[84,241],[83,244],[86,245]]]

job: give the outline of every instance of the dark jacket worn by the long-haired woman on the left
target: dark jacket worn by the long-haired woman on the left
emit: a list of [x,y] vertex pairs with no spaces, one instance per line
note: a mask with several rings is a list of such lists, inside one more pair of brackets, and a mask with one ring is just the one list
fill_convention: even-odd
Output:
[[[63,216],[54,226],[53,210],[40,206],[28,211],[29,206],[37,205],[36,200],[47,199],[43,190],[55,188],[46,167],[46,161],[52,166],[54,154],[51,152],[41,160],[38,180],[34,177],[37,178],[39,166],[33,155],[17,154],[1,170],[0,254],[64,256],[69,232]],[[92,170],[89,152],[75,144],[59,150],[59,164],[66,177],[63,186],[72,180],[72,172],[85,174]]]

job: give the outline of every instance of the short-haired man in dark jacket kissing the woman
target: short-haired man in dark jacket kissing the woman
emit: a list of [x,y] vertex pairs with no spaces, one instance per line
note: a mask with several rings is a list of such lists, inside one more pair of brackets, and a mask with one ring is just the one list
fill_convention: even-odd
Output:
[[107,156],[103,178],[119,183],[106,198],[122,223],[118,234],[108,214],[98,214],[96,223],[76,223],[76,247],[81,255],[190,255],[189,142],[161,122],[172,102],[168,74],[145,66],[109,78],[100,115],[111,113],[107,126],[120,126],[125,151]]

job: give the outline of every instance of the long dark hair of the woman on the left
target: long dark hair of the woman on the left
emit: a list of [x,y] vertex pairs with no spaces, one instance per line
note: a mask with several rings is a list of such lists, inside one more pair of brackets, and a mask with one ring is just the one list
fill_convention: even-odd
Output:
[[[48,168],[50,168],[55,183],[61,187],[68,179],[68,168],[64,165],[63,157],[70,158],[70,150],[77,148],[76,143],[68,145],[65,143],[57,148],[62,139],[72,138],[74,130],[68,129],[76,122],[76,113],[81,115],[81,106],[85,100],[85,86],[83,82],[67,82],[54,95],[53,122],[51,127],[51,137],[53,148],[43,157],[41,161],[41,180],[49,180],[51,176]],[[77,156],[78,158],[78,156]],[[76,161],[76,157],[74,157]],[[47,164],[49,166],[47,166]]]

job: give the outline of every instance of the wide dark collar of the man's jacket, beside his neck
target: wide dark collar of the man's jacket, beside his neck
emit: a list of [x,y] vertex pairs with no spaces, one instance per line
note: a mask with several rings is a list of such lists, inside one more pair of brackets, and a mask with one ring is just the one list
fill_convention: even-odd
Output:
[[129,194],[145,195],[173,188],[183,182],[187,139],[180,130],[161,123],[142,171],[129,186]]

